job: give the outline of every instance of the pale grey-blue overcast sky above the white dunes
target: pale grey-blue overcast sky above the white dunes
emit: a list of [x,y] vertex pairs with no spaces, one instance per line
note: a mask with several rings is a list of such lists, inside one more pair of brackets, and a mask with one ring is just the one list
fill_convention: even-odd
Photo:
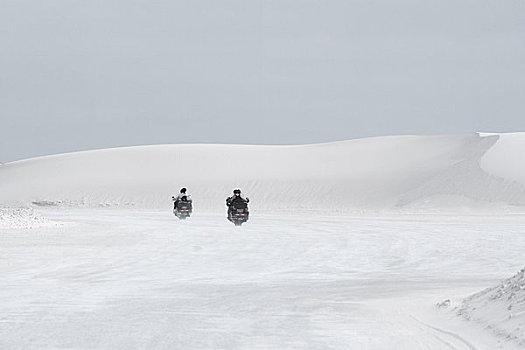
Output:
[[0,162],[525,131],[524,0],[0,0]]

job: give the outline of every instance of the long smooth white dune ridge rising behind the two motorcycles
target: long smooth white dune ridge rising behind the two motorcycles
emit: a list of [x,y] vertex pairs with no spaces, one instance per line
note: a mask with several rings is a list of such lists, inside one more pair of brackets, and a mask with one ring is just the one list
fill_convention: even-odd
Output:
[[466,134],[60,154],[0,166],[0,204],[163,208],[186,186],[200,210],[222,210],[237,187],[255,210],[521,210],[524,144]]

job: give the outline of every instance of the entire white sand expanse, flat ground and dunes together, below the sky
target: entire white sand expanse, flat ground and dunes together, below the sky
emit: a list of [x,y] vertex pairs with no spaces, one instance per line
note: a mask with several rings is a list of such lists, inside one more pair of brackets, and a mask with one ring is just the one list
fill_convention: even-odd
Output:
[[523,270],[463,300],[523,268],[523,159],[525,133],[3,164],[0,348],[523,348]]

